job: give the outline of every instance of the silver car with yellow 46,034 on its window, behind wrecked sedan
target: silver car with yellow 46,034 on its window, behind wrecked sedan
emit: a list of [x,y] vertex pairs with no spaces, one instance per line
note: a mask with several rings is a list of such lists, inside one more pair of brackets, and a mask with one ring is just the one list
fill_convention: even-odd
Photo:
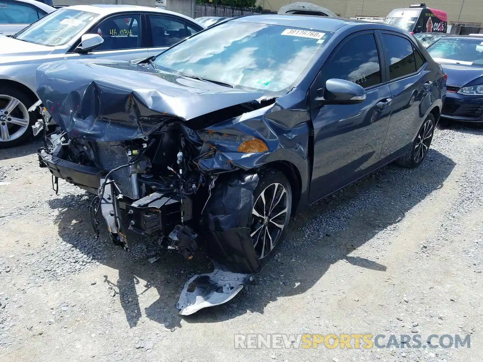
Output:
[[0,148],[33,135],[37,114],[28,108],[38,100],[35,72],[41,64],[63,59],[147,58],[204,28],[183,14],[104,4],[64,7],[12,37],[0,35]]

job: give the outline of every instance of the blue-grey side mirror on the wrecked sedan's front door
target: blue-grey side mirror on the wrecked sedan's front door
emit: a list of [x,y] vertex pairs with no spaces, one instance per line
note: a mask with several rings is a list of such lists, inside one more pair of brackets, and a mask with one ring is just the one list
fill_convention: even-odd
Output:
[[343,79],[328,79],[325,88],[317,90],[318,102],[330,104],[356,104],[366,100],[366,91],[359,84]]

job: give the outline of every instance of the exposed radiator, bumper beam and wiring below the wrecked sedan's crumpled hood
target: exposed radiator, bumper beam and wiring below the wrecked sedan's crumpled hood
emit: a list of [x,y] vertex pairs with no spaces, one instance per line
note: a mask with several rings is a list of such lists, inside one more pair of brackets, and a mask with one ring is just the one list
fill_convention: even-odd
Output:
[[186,132],[171,123],[143,139],[89,141],[58,128],[45,137],[40,166],[56,181],[96,194],[91,222],[99,233],[103,217],[116,245],[127,249],[126,231],[131,230],[191,258],[198,248],[193,212],[201,213],[197,205],[206,202],[203,189],[212,177],[193,169],[192,154],[200,141]]

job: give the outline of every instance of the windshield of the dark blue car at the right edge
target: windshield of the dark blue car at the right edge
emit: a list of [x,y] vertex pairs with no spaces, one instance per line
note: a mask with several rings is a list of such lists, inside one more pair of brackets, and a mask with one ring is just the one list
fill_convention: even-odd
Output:
[[442,38],[427,51],[440,63],[483,64],[483,39]]

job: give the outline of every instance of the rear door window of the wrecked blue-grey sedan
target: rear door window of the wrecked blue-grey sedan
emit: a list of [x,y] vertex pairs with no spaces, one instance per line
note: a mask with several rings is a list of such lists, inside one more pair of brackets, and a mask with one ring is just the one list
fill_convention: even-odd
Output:
[[414,73],[417,69],[412,43],[397,35],[381,34],[381,36],[390,80]]

